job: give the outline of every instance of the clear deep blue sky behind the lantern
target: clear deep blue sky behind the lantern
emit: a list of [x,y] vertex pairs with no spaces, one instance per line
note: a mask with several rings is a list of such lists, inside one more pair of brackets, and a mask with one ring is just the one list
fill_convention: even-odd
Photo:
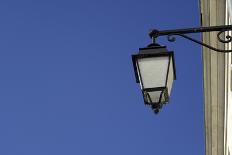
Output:
[[200,26],[197,0],[1,0],[0,21],[0,154],[204,154],[201,47],[159,40],[177,69],[159,115],[131,62],[150,29]]

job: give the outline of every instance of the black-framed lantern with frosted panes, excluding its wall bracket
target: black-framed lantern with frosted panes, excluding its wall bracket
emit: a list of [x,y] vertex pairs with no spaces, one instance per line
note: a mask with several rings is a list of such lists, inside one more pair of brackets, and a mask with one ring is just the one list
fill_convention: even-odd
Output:
[[132,61],[144,103],[158,113],[162,105],[168,103],[176,79],[173,52],[167,51],[166,46],[151,44],[132,55]]

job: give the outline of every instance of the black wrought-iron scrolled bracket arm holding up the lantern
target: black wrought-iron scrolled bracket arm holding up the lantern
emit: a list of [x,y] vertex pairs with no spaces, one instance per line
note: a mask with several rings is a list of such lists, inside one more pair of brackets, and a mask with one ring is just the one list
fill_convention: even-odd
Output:
[[223,35],[222,34],[227,32],[227,31],[232,31],[232,25],[223,25],[223,26],[210,26],[210,27],[199,27],[199,28],[187,28],[187,29],[175,29],[175,30],[164,30],[164,31],[159,31],[159,30],[152,30],[149,33],[149,36],[152,38],[153,43],[155,43],[156,38],[160,36],[167,36],[167,40],[170,42],[176,41],[175,36],[181,36],[185,39],[188,39],[190,41],[193,41],[197,44],[200,44],[204,47],[207,47],[211,50],[221,52],[221,53],[229,53],[232,52],[232,50],[224,50],[224,49],[217,49],[215,47],[212,47],[210,45],[207,45],[199,40],[196,40],[186,34],[190,33],[202,33],[202,32],[214,32],[217,31],[217,39],[219,42],[227,44],[232,42],[232,36],[230,34]]

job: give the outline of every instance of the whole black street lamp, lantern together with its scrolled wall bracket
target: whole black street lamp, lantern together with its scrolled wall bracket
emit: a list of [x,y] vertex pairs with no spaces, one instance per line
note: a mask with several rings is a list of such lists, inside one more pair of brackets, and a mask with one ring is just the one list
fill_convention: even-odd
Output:
[[153,41],[152,44],[145,48],[140,48],[138,54],[132,55],[136,82],[140,84],[144,103],[151,106],[156,114],[160,111],[163,104],[168,103],[172,84],[176,79],[174,53],[168,51],[166,46],[160,46],[157,44],[156,38],[160,36],[167,36],[168,41],[174,42],[176,40],[174,36],[181,36],[217,52],[232,52],[232,50],[217,49],[186,35],[189,33],[212,31],[218,31],[217,39],[219,42],[232,42],[232,36],[230,35],[221,37],[221,35],[226,31],[232,31],[232,25],[164,31],[152,30],[149,33]]

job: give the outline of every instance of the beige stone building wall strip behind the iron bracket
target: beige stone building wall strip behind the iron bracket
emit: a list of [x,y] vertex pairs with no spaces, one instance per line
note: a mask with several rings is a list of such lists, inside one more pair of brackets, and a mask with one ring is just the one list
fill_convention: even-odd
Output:
[[[225,25],[226,0],[200,0],[202,26]],[[204,33],[204,43],[224,49],[218,42],[217,33]],[[204,115],[205,115],[205,151],[206,155],[225,155],[227,138],[227,119],[225,117],[229,97],[227,93],[226,54],[202,48]],[[225,133],[228,133],[225,135]]]

